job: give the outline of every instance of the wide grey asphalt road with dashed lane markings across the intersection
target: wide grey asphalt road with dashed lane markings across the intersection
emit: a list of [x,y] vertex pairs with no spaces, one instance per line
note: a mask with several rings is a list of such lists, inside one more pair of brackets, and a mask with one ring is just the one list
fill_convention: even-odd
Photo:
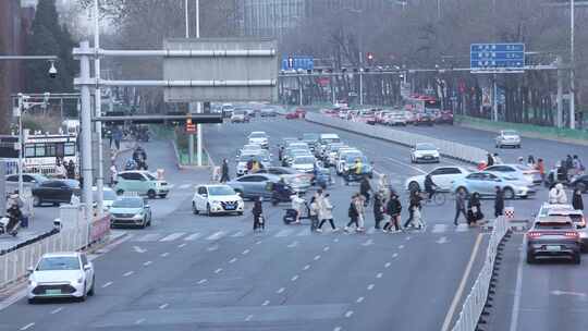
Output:
[[[266,131],[273,146],[305,132],[339,133],[400,192],[407,176],[437,167],[411,164],[405,147],[283,119],[207,126],[207,150],[217,163],[234,161],[252,131]],[[150,169],[164,169],[174,185],[168,198],[150,203],[154,225],[131,229],[93,256],[94,297],[0,302],[0,331],[441,330],[458,312],[460,297],[479,270],[488,235],[479,228],[454,226],[452,200],[424,209],[424,231],[396,234],[376,232],[371,212],[365,234],[310,233],[307,224],[282,223],[286,205],[265,204],[266,232],[254,234],[249,210],[241,217],[192,214],[193,186],[208,182],[209,171],[177,170],[167,142],[144,145]],[[329,188],[338,226],[346,223],[348,199],[357,189],[339,180]],[[546,194],[509,204],[529,216]],[[492,201],[483,203],[487,216],[491,207]]]

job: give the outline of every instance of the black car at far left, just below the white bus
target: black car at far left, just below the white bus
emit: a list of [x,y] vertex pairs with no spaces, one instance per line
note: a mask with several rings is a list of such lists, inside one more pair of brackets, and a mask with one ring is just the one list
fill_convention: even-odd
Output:
[[41,206],[49,203],[56,206],[69,204],[72,195],[79,195],[79,182],[74,180],[45,181],[33,188],[33,205]]

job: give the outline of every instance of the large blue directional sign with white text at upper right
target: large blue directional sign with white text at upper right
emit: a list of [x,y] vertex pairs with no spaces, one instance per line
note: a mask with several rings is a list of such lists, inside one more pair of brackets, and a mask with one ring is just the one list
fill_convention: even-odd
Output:
[[471,44],[469,62],[473,71],[523,69],[525,44]]

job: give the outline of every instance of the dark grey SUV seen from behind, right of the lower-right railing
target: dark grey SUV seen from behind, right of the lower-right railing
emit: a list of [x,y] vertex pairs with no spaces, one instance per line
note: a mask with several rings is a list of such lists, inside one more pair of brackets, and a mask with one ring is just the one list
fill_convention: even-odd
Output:
[[580,263],[580,236],[566,217],[546,217],[527,232],[527,263],[538,258],[569,258]]

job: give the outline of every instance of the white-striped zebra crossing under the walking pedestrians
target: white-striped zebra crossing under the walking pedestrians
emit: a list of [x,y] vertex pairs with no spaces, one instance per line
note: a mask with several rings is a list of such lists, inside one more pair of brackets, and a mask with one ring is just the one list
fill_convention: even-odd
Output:
[[[457,226],[453,224],[431,224],[425,226],[424,230],[409,230],[409,233],[429,233],[433,235],[448,234],[448,233],[465,233],[465,232],[477,232],[477,229],[469,228],[467,224],[460,224]],[[380,230],[368,228],[364,235],[385,235]],[[205,242],[215,242],[222,238],[238,238],[245,236],[255,235],[252,230],[231,230],[231,231],[221,231],[221,230],[211,230],[211,231],[195,231],[195,232],[150,232],[145,234],[134,234],[131,237],[131,242],[160,242],[160,243],[170,243],[170,242],[193,242],[193,241],[205,241]],[[343,231],[332,232],[331,230],[324,230],[322,233],[313,233],[310,226],[308,225],[292,225],[289,228],[282,229],[271,229],[266,232],[258,234],[275,238],[284,237],[301,237],[309,235],[344,235]]]

